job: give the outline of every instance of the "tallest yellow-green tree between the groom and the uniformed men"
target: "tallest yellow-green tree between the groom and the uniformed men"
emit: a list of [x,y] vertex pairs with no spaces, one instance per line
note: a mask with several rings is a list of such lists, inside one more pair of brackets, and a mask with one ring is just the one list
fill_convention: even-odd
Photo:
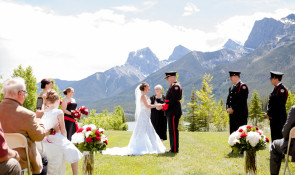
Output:
[[202,88],[196,92],[197,100],[199,103],[199,124],[204,131],[209,131],[209,123],[214,116],[215,99],[212,94],[213,86],[210,84],[212,81],[210,74],[203,76]]

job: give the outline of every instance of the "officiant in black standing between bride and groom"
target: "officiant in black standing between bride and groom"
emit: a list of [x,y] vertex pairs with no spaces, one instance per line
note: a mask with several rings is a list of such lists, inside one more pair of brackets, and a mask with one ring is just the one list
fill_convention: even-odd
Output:
[[[162,95],[162,86],[155,86],[155,95],[151,96],[151,104],[164,103],[165,96]],[[156,108],[151,109],[151,121],[152,124],[159,135],[160,139],[167,140],[167,118],[164,115],[164,111],[157,110]]]

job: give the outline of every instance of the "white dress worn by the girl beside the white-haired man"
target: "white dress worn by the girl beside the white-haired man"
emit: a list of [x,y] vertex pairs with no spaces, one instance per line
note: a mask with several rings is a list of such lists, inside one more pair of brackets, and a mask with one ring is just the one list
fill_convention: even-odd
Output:
[[[59,114],[63,114],[60,109],[52,109],[44,113],[41,121],[46,130],[53,128],[58,123],[57,116]],[[76,146],[60,132],[45,137],[42,143],[43,153],[48,160],[48,175],[63,175],[66,170],[65,161],[74,163],[79,161],[83,156]]]

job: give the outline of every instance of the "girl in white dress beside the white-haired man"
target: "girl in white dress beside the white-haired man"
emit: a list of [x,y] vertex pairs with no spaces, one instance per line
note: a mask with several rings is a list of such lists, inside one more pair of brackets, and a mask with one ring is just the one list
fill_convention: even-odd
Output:
[[48,108],[44,112],[41,121],[45,129],[60,126],[60,132],[55,135],[47,136],[43,140],[44,154],[48,159],[48,175],[64,174],[65,160],[71,164],[73,175],[78,175],[78,161],[82,158],[82,153],[76,146],[67,139],[65,128],[64,113],[58,109],[60,100],[59,95],[50,90],[45,96]]

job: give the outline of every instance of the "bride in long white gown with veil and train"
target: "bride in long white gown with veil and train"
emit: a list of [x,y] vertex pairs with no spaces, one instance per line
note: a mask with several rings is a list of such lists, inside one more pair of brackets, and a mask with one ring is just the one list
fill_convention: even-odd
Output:
[[151,105],[150,99],[146,96],[150,87],[146,82],[141,83],[135,89],[135,120],[136,126],[127,147],[109,148],[102,154],[110,155],[143,155],[164,153],[166,148],[160,137],[157,135],[151,120],[151,108],[157,105]]

